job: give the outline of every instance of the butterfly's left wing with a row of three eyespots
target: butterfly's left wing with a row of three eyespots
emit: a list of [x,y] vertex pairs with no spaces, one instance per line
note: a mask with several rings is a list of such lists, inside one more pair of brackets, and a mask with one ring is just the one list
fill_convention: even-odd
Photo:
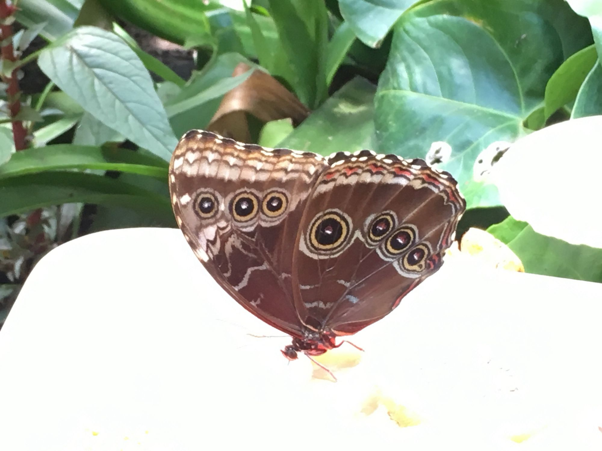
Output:
[[191,130],[170,164],[176,221],[209,273],[240,304],[293,336],[293,249],[309,192],[326,162]]

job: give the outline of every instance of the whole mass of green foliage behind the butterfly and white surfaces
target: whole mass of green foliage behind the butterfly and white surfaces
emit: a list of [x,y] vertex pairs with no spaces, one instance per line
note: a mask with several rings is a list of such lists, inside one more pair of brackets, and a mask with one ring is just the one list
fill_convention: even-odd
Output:
[[[0,324],[56,245],[117,227],[175,227],[167,166],[193,128],[321,155],[368,148],[425,158],[452,173],[467,199],[459,233],[489,228],[527,272],[602,281],[602,250],[516,221],[479,176],[503,153],[492,144],[602,114],[595,2],[13,5],[3,16],[14,58],[3,48]],[[16,121],[25,146],[16,145]]]

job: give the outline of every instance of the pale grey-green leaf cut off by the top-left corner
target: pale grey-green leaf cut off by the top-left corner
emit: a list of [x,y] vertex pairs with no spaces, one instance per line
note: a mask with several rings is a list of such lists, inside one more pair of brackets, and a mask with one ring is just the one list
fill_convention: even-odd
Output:
[[28,27],[46,22],[40,34],[54,41],[73,27],[82,4],[84,0],[19,0],[15,17]]

